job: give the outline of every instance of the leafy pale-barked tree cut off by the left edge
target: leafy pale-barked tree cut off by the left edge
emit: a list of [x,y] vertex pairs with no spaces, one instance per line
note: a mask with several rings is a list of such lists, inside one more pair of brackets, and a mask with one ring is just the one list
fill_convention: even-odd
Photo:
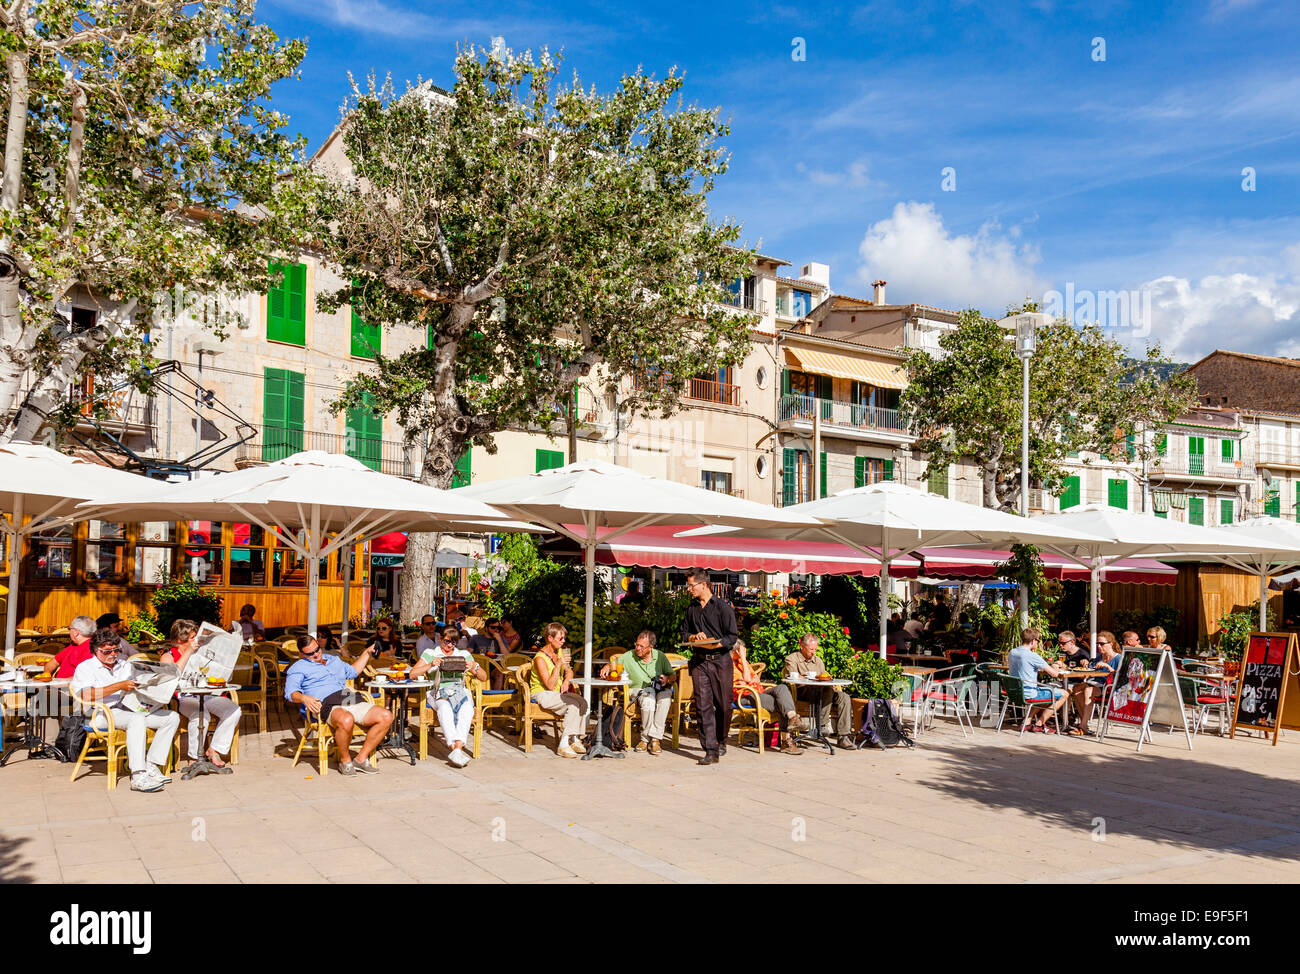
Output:
[[[266,259],[306,209],[300,144],[266,96],[306,47],[252,14],[254,0],[0,0],[0,438],[34,438],[79,372],[147,384],[160,293],[272,282]],[[74,289],[113,313],[73,328]]]

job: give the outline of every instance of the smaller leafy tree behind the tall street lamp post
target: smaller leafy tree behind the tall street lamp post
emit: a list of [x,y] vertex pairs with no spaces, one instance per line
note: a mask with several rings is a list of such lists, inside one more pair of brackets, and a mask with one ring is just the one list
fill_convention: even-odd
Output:
[[[902,397],[916,449],[928,454],[927,477],[970,458],[983,476],[984,506],[1018,511],[1022,367],[1014,343],[994,321],[968,309],[939,345],[941,355],[918,350],[907,356]],[[1153,459],[1157,442],[1149,433],[1196,403],[1195,380],[1166,375],[1164,365],[1169,359],[1158,345],[1132,359],[1097,326],[1057,319],[1040,328],[1030,359],[1030,482],[1060,492],[1072,453]]]

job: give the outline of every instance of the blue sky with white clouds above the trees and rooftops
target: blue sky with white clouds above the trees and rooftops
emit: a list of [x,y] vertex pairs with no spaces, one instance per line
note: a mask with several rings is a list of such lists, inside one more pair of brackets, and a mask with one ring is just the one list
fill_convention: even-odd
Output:
[[1070,286],[1086,317],[1087,295],[1128,290],[1108,322],[1135,347],[1300,356],[1287,4],[263,0],[259,18],[308,39],[274,95],[312,147],[347,72],[450,87],[458,42],[562,49],[601,88],[676,65],[731,120],[714,213],[792,274],[818,260],[840,293],[883,277],[890,302],[991,313]]

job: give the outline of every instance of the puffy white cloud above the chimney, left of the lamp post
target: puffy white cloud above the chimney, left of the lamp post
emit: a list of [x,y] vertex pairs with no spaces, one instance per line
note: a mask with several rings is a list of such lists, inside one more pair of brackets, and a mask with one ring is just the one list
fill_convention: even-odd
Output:
[[1001,315],[1006,306],[1040,295],[1046,282],[1036,272],[1037,248],[994,222],[974,235],[952,234],[933,203],[898,203],[885,220],[867,228],[858,247],[858,281],[889,282],[893,303],[982,308]]

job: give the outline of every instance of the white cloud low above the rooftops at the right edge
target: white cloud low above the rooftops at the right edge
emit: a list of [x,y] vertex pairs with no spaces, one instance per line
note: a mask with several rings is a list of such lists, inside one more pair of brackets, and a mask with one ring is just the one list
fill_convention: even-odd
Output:
[[[1296,260],[1297,248],[1284,251]],[[1179,362],[1216,349],[1300,358],[1300,273],[1157,277],[1150,290],[1150,333]]]

